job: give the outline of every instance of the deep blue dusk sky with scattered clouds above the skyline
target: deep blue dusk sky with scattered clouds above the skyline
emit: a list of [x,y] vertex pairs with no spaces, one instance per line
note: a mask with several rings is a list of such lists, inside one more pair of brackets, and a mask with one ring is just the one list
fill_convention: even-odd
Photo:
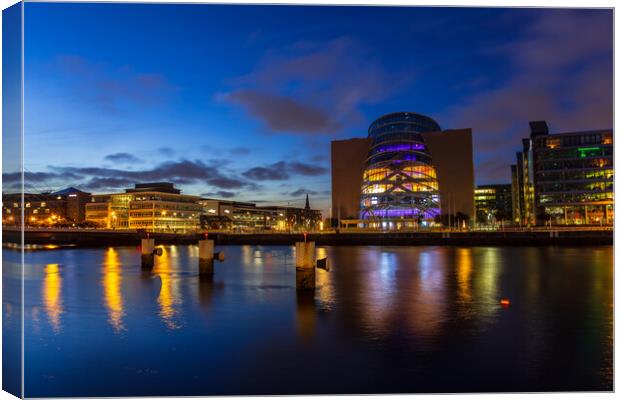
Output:
[[330,140],[388,112],[472,128],[479,184],[509,182],[530,120],[610,128],[612,12],[27,3],[25,82],[32,190],[327,210]]

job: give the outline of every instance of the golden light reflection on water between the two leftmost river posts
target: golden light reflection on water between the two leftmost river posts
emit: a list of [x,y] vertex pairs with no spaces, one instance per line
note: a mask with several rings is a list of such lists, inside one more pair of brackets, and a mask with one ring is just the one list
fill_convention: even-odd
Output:
[[180,279],[176,276],[179,269],[176,246],[171,246],[170,250],[162,247],[162,255],[155,260],[153,273],[157,274],[161,280],[161,289],[157,304],[159,305],[159,316],[168,329],[178,329],[182,326],[180,321],[181,297]]

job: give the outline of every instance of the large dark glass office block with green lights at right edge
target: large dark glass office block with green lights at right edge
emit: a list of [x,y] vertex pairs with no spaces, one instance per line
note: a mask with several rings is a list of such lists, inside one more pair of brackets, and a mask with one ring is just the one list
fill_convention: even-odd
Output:
[[514,166],[517,219],[543,225],[613,224],[613,131],[550,134],[530,122]]

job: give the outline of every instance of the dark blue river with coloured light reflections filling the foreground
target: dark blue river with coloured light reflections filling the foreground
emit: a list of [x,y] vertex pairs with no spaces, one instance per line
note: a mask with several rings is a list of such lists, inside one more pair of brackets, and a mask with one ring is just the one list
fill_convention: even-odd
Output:
[[611,246],[319,248],[306,296],[293,247],[224,250],[26,253],[26,396],[613,389]]

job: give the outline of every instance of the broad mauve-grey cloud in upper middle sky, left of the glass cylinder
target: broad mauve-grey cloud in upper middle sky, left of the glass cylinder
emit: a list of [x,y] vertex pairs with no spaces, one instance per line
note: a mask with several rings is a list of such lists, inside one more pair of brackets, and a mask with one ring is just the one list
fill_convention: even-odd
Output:
[[400,89],[363,44],[341,37],[266,52],[217,98],[241,106],[270,133],[334,134],[363,120],[360,108]]

